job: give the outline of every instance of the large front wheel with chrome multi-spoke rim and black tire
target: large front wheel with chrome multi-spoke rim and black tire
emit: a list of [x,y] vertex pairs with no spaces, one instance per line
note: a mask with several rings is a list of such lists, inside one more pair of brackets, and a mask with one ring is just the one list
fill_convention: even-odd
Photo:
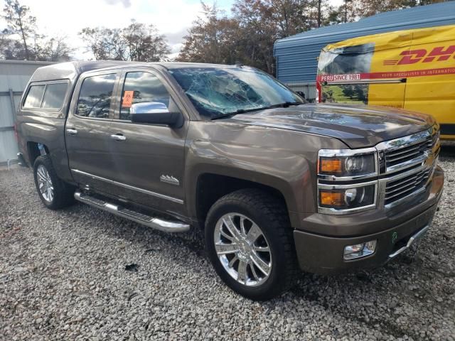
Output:
[[278,296],[294,283],[286,207],[261,190],[237,190],[215,202],[205,222],[205,246],[218,276],[254,301]]

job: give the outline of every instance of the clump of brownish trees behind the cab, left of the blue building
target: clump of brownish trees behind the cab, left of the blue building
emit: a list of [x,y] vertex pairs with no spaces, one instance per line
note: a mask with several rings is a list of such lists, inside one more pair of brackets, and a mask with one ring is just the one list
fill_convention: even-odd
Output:
[[[274,72],[275,40],[317,25],[315,0],[237,0],[231,16],[203,5],[184,37],[177,60],[205,63],[237,61]],[[321,0],[321,9],[324,2]],[[322,18],[322,14],[321,14]]]

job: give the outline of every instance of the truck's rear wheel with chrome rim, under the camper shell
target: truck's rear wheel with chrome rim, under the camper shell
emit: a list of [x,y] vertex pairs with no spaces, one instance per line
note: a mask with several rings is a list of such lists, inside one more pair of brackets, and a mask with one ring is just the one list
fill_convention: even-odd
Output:
[[36,158],[33,163],[33,177],[41,201],[50,210],[58,210],[75,202],[73,186],[58,178],[50,156],[42,155]]

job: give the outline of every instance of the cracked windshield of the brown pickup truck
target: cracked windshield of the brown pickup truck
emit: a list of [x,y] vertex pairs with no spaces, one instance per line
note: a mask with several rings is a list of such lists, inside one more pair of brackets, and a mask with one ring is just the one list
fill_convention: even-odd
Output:
[[304,103],[277,80],[251,68],[188,67],[170,72],[198,112],[208,119],[279,104]]

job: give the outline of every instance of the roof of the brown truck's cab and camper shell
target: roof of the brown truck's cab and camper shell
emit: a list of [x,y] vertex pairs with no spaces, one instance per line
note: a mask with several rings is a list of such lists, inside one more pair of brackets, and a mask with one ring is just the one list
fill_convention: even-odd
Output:
[[174,69],[178,67],[235,67],[235,65],[218,65],[218,64],[204,64],[204,63],[177,63],[177,62],[164,62],[164,63],[144,63],[144,62],[124,62],[120,60],[100,60],[100,61],[77,61],[58,63],[47,65],[36,69],[31,77],[31,82],[43,82],[46,80],[62,80],[69,79],[75,80],[82,72],[100,70],[106,67],[117,67],[122,65],[131,66],[147,66],[147,65],[161,65],[166,69]]

